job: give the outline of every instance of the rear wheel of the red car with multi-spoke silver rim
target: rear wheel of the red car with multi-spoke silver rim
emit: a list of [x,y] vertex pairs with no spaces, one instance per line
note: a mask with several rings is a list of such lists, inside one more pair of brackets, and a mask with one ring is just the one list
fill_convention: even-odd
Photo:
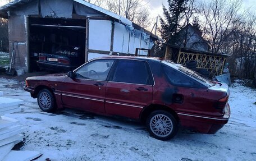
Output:
[[153,111],[146,124],[149,134],[158,140],[170,140],[178,131],[177,120],[167,111]]

